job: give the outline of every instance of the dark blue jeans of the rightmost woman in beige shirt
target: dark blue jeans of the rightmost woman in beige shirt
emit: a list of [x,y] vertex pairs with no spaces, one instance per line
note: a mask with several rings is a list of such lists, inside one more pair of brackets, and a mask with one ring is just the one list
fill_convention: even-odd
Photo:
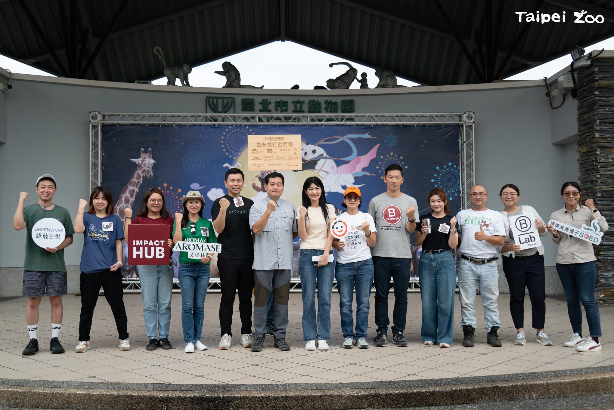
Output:
[[567,298],[567,315],[572,325],[573,333],[582,333],[582,310],[580,301],[586,312],[586,322],[591,338],[601,336],[601,319],[599,308],[595,302],[595,263],[557,263],[565,298]]

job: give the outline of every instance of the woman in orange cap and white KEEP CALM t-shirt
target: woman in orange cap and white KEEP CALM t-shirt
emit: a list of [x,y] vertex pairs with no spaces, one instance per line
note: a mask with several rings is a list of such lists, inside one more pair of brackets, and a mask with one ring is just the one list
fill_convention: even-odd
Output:
[[[369,247],[375,245],[375,222],[373,217],[358,209],[362,204],[360,190],[348,187],[343,194],[343,212],[333,223],[333,246],[338,249],[335,265],[337,290],[341,310],[341,331],[344,349],[367,349],[367,327],[369,321],[369,295],[373,284],[373,259]],[[341,228],[337,229],[339,226]],[[338,237],[342,237],[339,239]],[[352,299],[356,287],[356,331],[352,318]]]

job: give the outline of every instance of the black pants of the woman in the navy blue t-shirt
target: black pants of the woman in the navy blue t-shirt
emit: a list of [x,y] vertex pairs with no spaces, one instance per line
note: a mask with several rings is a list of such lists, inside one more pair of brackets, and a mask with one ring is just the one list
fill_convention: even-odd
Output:
[[119,339],[128,339],[128,317],[123,306],[122,271],[107,269],[98,273],[81,273],[81,318],[79,320],[79,341],[90,340],[91,317],[98,301],[100,287],[103,287],[111,312],[115,317]]

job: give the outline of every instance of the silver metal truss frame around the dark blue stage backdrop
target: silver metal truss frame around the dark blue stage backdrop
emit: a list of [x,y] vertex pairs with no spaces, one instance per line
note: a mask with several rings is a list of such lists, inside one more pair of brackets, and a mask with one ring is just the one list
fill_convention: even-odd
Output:
[[[461,169],[461,208],[468,207],[468,192],[475,184],[475,112],[399,113],[399,114],[176,114],[139,112],[89,112],[90,190],[102,183],[102,128],[105,125],[459,125],[459,167]],[[125,292],[141,292],[138,279],[123,280]],[[336,289],[336,283],[333,284]],[[410,279],[408,292],[419,292],[418,277]],[[181,292],[175,279],[173,292]],[[208,292],[220,292],[219,279],[212,278]],[[291,279],[290,292],[301,292],[300,278]]]

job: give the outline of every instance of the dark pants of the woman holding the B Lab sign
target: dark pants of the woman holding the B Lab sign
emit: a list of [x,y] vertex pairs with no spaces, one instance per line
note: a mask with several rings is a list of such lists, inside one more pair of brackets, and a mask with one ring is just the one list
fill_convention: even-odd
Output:
[[543,255],[503,257],[503,272],[510,285],[511,319],[517,329],[524,328],[524,288],[529,290],[533,328],[543,329],[546,317],[546,284]]

